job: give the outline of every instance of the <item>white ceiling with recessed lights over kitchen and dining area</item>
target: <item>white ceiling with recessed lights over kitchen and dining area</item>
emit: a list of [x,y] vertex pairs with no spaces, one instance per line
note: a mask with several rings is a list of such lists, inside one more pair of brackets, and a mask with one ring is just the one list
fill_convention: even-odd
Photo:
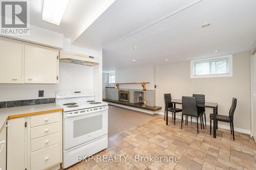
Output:
[[103,48],[104,71],[246,52],[256,40],[255,0],[70,0],[59,26],[41,20],[42,4],[30,1],[31,24]]

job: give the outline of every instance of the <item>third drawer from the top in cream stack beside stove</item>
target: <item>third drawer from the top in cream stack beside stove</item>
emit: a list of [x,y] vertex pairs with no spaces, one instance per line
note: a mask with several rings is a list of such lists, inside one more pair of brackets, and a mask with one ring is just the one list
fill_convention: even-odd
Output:
[[31,140],[31,152],[49,147],[60,142],[60,133],[54,133]]

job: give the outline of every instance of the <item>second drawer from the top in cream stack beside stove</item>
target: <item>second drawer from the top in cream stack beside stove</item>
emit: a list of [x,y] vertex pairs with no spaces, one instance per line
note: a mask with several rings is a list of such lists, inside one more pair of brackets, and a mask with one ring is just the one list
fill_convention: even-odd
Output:
[[30,139],[50,135],[50,134],[57,133],[57,132],[60,132],[60,123],[59,122],[34,127],[34,128],[31,128],[31,130],[30,130]]

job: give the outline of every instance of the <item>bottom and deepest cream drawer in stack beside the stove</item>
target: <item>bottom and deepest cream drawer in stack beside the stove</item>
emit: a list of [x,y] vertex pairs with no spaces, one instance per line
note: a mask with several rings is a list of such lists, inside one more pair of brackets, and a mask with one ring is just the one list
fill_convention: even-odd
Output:
[[31,169],[46,169],[60,163],[60,143],[31,153]]

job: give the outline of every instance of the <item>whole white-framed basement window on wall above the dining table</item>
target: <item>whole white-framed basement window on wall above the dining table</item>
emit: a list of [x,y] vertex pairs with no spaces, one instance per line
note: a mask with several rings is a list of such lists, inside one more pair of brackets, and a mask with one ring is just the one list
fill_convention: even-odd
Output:
[[190,61],[190,78],[232,77],[232,55]]

